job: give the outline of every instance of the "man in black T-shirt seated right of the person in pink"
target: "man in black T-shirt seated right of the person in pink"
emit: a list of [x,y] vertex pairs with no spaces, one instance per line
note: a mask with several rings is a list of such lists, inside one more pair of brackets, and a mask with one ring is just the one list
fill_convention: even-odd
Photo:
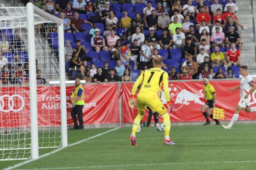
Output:
[[243,43],[241,42],[240,35],[237,32],[234,32],[234,28],[230,26],[228,32],[225,34],[226,38],[226,47],[229,47],[232,43],[236,44],[241,52],[243,50]]

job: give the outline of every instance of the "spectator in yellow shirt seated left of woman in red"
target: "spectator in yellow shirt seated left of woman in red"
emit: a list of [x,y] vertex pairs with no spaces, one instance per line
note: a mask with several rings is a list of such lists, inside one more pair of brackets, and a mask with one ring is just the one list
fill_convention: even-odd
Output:
[[218,46],[214,47],[214,52],[211,54],[212,67],[226,67],[226,58],[223,52],[220,52],[220,48]]

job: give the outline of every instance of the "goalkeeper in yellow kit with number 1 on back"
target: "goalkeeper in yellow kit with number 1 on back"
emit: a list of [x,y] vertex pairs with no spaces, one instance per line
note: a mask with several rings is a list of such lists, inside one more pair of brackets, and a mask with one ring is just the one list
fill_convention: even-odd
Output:
[[[163,71],[162,68],[162,59],[155,58],[153,60],[154,68],[143,71],[139,76],[139,79],[134,83],[133,89],[131,90],[131,97],[129,99],[130,108],[134,108],[135,101],[133,99],[138,85],[141,85],[141,89],[137,95],[137,110],[138,114],[133,122],[133,129],[131,132],[131,144],[136,146],[135,133],[145,114],[145,108],[148,106],[152,109],[153,112],[158,112],[164,119],[164,144],[174,145],[170,139],[170,116],[169,112],[171,111],[170,105],[170,94],[168,91],[168,74]],[[167,109],[164,108],[162,101],[160,99],[161,86],[164,85],[164,96],[167,101]]]

